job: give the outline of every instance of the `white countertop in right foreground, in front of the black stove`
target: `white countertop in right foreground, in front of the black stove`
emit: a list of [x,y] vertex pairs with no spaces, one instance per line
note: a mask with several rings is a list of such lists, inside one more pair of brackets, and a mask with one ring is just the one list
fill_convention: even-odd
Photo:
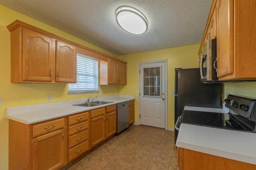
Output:
[[176,147],[256,164],[256,133],[182,123]]

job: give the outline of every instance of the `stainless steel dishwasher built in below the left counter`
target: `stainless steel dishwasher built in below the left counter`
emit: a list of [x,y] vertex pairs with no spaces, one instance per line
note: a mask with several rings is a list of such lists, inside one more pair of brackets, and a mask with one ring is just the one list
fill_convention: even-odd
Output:
[[129,102],[123,102],[116,105],[116,131],[120,133],[129,126]]

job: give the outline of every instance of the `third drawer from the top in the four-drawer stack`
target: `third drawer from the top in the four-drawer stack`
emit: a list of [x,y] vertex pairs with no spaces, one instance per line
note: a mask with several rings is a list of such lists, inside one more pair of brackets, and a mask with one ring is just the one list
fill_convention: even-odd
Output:
[[88,139],[88,129],[68,137],[68,148],[72,148]]

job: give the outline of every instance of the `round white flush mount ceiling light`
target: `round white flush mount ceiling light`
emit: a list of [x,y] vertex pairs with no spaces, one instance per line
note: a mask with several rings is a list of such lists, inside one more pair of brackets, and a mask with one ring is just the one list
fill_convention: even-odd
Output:
[[132,34],[143,34],[148,29],[146,17],[130,6],[120,6],[116,10],[116,22],[122,29]]

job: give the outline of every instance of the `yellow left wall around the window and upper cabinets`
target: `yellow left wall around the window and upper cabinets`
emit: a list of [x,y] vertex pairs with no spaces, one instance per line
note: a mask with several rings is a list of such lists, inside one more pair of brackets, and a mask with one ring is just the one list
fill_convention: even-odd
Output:
[[[0,5],[0,97],[2,97],[2,106],[0,106],[0,170],[8,169],[7,107],[76,100],[88,98],[88,96],[100,96],[99,94],[67,95],[68,85],[66,84],[10,83],[10,32],[6,26],[14,20],[24,21],[30,25],[34,25],[50,33],[64,37],[112,57],[118,57],[113,53],[96,47],[95,45],[60,31],[59,29]],[[100,86],[99,90],[102,91],[102,96],[112,95],[113,90],[115,91],[115,95],[119,93],[118,86]],[[52,101],[46,102],[46,94],[52,95]]]

